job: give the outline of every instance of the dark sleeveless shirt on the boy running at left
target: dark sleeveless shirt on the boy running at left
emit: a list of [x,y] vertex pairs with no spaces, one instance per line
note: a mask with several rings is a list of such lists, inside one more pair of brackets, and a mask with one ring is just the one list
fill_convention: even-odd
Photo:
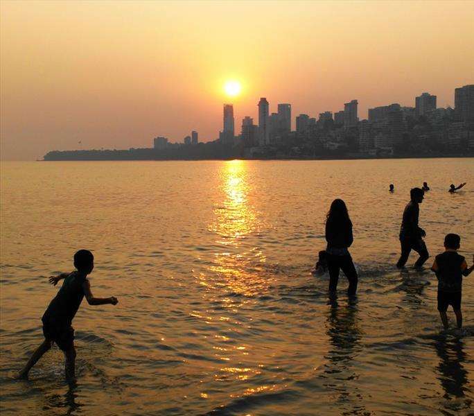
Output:
[[78,272],[71,272],[64,279],[58,294],[44,312],[43,322],[54,321],[70,325],[84,298],[82,288],[84,282],[85,276],[79,275]]

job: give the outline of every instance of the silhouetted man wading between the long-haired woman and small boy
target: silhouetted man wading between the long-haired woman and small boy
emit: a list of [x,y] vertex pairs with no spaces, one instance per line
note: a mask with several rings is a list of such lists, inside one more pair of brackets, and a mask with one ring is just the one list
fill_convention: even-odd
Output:
[[408,202],[403,211],[403,219],[400,227],[401,257],[396,263],[396,267],[403,268],[408,260],[412,250],[416,251],[420,257],[416,260],[415,268],[421,268],[423,263],[428,260],[430,254],[426,249],[423,237],[426,236],[425,230],[418,226],[420,207],[423,202],[424,192],[421,188],[413,188],[410,191],[410,202]]

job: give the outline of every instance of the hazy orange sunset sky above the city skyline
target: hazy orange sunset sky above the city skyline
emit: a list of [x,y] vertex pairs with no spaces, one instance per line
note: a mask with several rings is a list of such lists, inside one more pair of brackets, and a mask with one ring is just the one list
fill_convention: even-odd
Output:
[[213,140],[222,103],[240,132],[261,96],[294,128],[354,98],[361,119],[421,92],[454,105],[469,83],[474,1],[1,1],[2,159]]

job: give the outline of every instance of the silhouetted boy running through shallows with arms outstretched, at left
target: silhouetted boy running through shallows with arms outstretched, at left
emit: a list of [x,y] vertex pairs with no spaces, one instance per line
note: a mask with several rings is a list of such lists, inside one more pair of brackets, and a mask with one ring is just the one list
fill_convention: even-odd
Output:
[[82,298],[86,297],[89,305],[116,305],[119,302],[114,296],[94,297],[92,295],[87,275],[94,269],[94,256],[89,250],[79,250],[74,254],[74,267],[76,270],[71,273],[61,273],[58,276],[49,277],[49,281],[54,286],[61,279],[64,279],[64,282],[42,317],[44,341],[19,373],[20,378],[26,378],[31,367],[55,343],[64,352],[66,358],[66,377],[73,379],[76,349],[74,349],[74,329],[71,327],[71,322],[79,309]]

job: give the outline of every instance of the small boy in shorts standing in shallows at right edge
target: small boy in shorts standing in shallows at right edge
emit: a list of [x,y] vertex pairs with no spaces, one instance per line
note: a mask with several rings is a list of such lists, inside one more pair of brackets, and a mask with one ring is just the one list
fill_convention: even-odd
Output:
[[[448,329],[448,306],[453,306],[458,329],[462,328],[462,276],[468,276],[474,265],[468,268],[464,257],[457,254],[461,237],[457,234],[448,234],[444,237],[444,253],[438,254],[431,270],[438,279],[438,311],[444,329]],[[474,256],[473,256],[474,261]]]

